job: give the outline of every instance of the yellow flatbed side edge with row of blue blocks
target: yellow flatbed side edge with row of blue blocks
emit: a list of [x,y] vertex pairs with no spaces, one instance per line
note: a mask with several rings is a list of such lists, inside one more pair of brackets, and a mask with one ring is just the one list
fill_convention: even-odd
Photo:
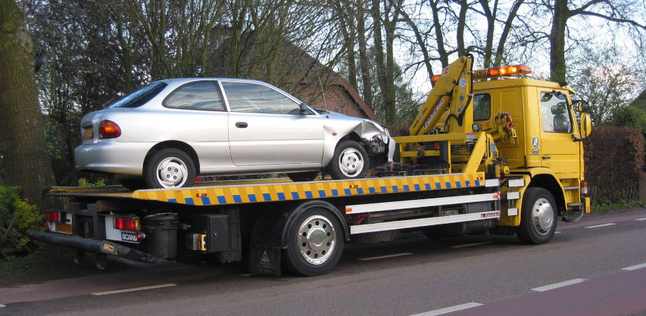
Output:
[[396,192],[476,188],[485,185],[484,173],[422,175],[344,181],[281,182],[230,187],[193,187],[134,191],[132,198],[195,206],[296,201],[310,198],[367,196]]

